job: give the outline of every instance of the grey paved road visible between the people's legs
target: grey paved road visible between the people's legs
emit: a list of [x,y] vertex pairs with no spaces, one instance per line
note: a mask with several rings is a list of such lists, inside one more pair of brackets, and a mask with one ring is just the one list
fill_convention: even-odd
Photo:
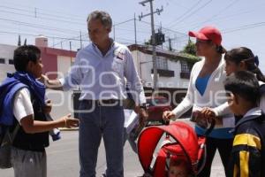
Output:
[[[48,154],[49,177],[78,177],[78,131],[62,132],[63,139],[58,142],[50,142]],[[103,143],[100,146],[96,176],[101,176],[105,169],[105,152]],[[136,177],[142,174],[138,157],[131,150],[128,143],[125,144],[125,177]],[[0,170],[1,177],[12,177],[12,169]],[[219,156],[216,156],[212,166],[213,177],[223,177],[223,166]]]

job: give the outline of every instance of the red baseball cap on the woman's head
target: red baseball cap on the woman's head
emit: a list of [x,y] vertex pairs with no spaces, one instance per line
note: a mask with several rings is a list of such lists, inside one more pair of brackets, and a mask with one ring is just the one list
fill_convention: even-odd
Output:
[[188,35],[200,40],[211,40],[216,45],[221,45],[222,42],[222,35],[216,27],[202,27],[199,32],[189,31]]

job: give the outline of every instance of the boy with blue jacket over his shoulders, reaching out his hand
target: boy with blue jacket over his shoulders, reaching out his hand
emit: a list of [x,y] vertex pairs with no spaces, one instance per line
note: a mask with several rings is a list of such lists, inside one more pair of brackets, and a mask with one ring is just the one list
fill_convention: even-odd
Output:
[[48,121],[45,116],[45,87],[37,78],[42,76],[41,50],[24,45],[14,51],[16,73],[0,86],[1,116],[4,125],[20,125],[11,150],[15,177],[46,177],[45,148],[49,146],[49,130],[77,127],[78,119],[66,115]]

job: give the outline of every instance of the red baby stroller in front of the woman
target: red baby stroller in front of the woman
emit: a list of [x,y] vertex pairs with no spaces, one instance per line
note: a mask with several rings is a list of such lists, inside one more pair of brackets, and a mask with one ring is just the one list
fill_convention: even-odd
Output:
[[[215,127],[214,121],[206,135],[213,127]],[[164,134],[165,141],[159,149],[157,144]],[[166,177],[170,158],[185,159],[192,166],[193,174],[196,175],[205,163],[205,142],[206,136],[198,137],[193,127],[184,122],[176,121],[168,126],[147,127],[138,139],[138,156],[145,172],[143,176]]]

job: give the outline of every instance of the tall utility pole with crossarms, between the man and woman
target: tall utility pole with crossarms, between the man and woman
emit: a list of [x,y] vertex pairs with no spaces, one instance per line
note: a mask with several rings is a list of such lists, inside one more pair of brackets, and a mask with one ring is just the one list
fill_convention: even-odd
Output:
[[143,15],[142,13],[139,16],[139,19],[142,19],[144,17],[147,17],[149,15],[151,15],[151,30],[152,30],[152,36],[151,36],[151,43],[152,43],[152,54],[153,54],[153,70],[154,70],[154,91],[157,91],[157,82],[158,82],[158,78],[157,78],[157,65],[156,65],[156,52],[155,52],[155,22],[154,22],[154,13],[157,13],[158,15],[160,15],[160,12],[163,12],[163,7],[159,10],[156,9],[156,11],[153,11],[153,1],[154,0],[145,0],[140,2],[139,4],[145,6],[146,3],[150,3],[150,13]]

